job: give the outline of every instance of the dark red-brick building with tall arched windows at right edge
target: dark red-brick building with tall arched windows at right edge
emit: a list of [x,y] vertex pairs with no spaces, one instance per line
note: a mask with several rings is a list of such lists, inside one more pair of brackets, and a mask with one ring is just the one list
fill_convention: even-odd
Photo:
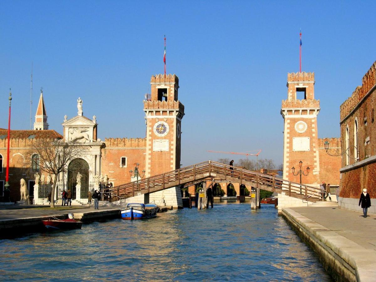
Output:
[[[340,106],[342,165],[339,205],[359,210],[359,196],[367,188],[370,212],[376,213],[376,62],[362,85]],[[330,144],[331,145],[331,144]]]

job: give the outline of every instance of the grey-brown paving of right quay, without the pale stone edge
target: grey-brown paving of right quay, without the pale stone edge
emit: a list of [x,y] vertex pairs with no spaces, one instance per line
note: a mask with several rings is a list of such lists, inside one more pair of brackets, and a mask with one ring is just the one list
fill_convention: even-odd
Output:
[[367,250],[376,251],[376,217],[333,207],[290,208]]

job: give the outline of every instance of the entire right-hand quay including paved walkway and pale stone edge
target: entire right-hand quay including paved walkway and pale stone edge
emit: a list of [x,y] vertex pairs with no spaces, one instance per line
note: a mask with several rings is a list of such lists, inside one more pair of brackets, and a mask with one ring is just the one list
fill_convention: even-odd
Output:
[[376,217],[335,207],[284,208],[282,216],[342,280],[376,281]]

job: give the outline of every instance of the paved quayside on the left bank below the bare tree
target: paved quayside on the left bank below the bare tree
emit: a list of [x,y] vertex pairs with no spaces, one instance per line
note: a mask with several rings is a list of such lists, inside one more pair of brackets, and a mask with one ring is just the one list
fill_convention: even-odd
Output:
[[[109,209],[118,209],[117,207],[99,207],[99,210],[109,210]],[[24,208],[15,208],[15,206],[0,206],[0,220],[9,220],[9,219],[17,219],[17,218],[27,218],[27,217],[43,217],[49,215],[59,215],[59,214],[68,214],[74,212],[89,212],[89,211],[96,211],[94,207],[85,207],[85,208],[75,208],[72,206],[72,209],[62,209],[62,210],[48,210],[48,209],[40,209],[35,208],[33,206],[24,207]]]

